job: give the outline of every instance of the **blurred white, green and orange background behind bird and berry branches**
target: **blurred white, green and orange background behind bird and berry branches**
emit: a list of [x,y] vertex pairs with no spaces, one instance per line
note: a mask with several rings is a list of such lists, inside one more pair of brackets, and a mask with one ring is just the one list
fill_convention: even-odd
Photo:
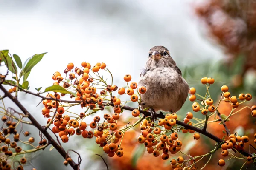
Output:
[[[48,52],[32,69],[28,79],[30,89],[52,85],[55,71],[63,71],[69,62],[76,66],[82,61],[92,65],[105,62],[114,84],[121,87],[125,85],[122,79],[125,74],[131,74],[138,82],[149,49],[163,45],[169,49],[190,87],[195,87],[199,94],[205,93],[200,84],[205,76],[215,78],[216,83],[210,89],[214,100],[219,98],[224,84],[233,95],[255,96],[255,18],[256,0],[0,0],[0,50],[9,49],[23,62],[34,54]],[[21,94],[20,100],[45,124],[41,106],[35,109],[40,99]],[[9,101],[6,105],[13,107]],[[253,101],[248,105],[253,105]],[[223,114],[229,114],[230,110],[230,105],[221,103]],[[77,111],[80,113],[81,108]],[[188,111],[192,111],[189,101],[178,112],[178,119],[183,120]],[[227,125],[231,132],[251,135],[255,133],[255,120],[250,119],[249,109],[243,111]],[[216,136],[224,136],[218,123],[208,128]],[[29,130],[38,134],[31,127]],[[171,169],[169,161],[144,153],[134,138],[138,134],[139,131],[131,130],[125,135],[122,158],[108,159],[93,139],[81,136],[74,136],[72,142],[63,146],[81,154],[81,169],[106,169],[94,153],[104,156],[111,170]],[[191,134],[183,136],[183,143],[187,146],[183,151],[191,156],[207,153],[214,147],[214,142],[204,137],[194,142]],[[70,169],[62,165],[64,160],[56,150],[49,151],[49,148],[31,154],[30,158],[28,169]],[[207,170],[220,169],[216,165],[220,158],[220,153],[216,154]],[[222,169],[236,170],[242,164],[242,161],[229,161]]]

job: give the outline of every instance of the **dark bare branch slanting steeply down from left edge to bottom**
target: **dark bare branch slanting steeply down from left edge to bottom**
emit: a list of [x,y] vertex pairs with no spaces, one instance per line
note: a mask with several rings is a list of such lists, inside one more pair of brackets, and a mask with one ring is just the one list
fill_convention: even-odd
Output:
[[[56,150],[58,150],[58,152],[61,154],[61,156],[66,159],[69,156],[67,155],[66,151],[63,149],[63,147],[61,147],[60,145],[58,145],[58,143],[52,138],[52,136],[47,132],[47,130],[44,129],[44,127],[42,127],[38,121],[26,110],[26,108],[24,108],[24,106],[14,97],[12,96],[4,87],[3,85],[0,84],[0,89],[4,92],[4,94],[12,100],[12,102],[14,102],[18,108],[20,108],[20,110],[26,115],[28,116],[29,120],[32,122],[32,125],[34,125],[35,127],[38,128],[38,130],[40,130],[44,136],[48,139],[48,142],[50,144],[52,144],[53,147],[55,147]],[[79,166],[78,164],[76,164],[73,161],[69,162],[70,166],[74,169],[74,170],[79,170]]]

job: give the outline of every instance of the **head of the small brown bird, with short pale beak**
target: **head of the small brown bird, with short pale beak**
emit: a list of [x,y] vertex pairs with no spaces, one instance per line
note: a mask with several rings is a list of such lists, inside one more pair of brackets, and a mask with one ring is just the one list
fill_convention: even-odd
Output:
[[154,46],[149,50],[146,67],[149,69],[174,67],[175,61],[170,56],[169,50],[163,46]]

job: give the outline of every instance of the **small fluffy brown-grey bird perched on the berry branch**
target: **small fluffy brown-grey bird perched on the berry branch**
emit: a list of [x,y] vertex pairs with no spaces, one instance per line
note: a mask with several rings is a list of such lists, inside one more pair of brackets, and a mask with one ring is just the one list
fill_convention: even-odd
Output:
[[155,111],[176,113],[188,97],[189,85],[169,50],[163,46],[149,50],[138,84],[146,88],[146,92],[140,95],[141,108],[149,108],[153,121],[157,120]]

